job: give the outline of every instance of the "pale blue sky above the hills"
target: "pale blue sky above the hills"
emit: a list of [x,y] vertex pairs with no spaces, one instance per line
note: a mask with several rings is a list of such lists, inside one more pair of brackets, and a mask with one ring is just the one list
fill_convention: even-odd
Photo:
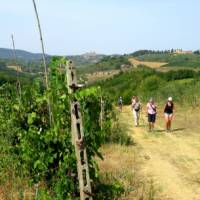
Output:
[[[45,52],[200,49],[199,0],[36,0]],[[41,52],[32,0],[0,0],[0,48]]]

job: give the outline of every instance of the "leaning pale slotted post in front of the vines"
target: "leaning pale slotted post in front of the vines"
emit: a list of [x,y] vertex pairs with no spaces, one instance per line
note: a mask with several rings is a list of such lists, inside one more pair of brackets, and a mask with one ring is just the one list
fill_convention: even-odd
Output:
[[[79,86],[77,84],[76,69],[72,61],[69,61],[67,68],[67,85],[69,93],[75,93]],[[84,132],[80,104],[74,97],[70,102],[71,107],[71,134],[72,143],[75,147],[77,170],[80,188],[80,200],[92,200],[92,189],[90,183],[87,152],[84,145]]]

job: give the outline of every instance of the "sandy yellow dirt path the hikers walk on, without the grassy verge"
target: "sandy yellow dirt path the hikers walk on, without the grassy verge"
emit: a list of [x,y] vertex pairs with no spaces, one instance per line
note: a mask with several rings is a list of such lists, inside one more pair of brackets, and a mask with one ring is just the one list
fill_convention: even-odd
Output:
[[177,114],[172,133],[163,130],[161,113],[154,133],[149,133],[144,126],[144,115],[141,116],[141,126],[133,126],[130,107],[124,107],[120,117],[122,123],[129,127],[128,132],[133,136],[140,154],[146,158],[141,163],[141,173],[146,179],[153,180],[164,199],[200,200],[199,114],[195,116],[194,112],[195,128],[189,119],[184,122],[187,116]]

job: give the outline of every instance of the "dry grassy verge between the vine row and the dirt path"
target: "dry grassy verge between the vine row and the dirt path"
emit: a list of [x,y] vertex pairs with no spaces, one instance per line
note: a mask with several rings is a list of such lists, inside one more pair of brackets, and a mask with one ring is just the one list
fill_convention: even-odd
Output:
[[108,185],[114,183],[123,188],[118,196],[111,198],[112,200],[155,199],[160,189],[153,179],[146,180],[140,173],[137,147],[112,144],[103,146],[102,152],[105,159],[98,161],[102,181]]

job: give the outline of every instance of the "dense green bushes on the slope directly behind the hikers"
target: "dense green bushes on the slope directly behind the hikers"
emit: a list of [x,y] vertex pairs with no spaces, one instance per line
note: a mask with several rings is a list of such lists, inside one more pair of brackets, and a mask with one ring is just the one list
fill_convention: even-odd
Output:
[[[147,101],[149,97],[165,101],[168,96],[173,96],[175,101],[180,103],[187,103],[187,101],[191,103],[193,98],[194,102],[198,102],[200,96],[197,89],[199,77],[199,72],[192,70],[162,73],[140,66],[138,69],[121,73],[107,81],[100,82],[100,85],[107,95],[112,94],[110,97],[116,104],[119,96],[122,96],[124,104],[130,104],[131,97],[136,95],[142,101]],[[195,97],[192,97],[193,94]]]

